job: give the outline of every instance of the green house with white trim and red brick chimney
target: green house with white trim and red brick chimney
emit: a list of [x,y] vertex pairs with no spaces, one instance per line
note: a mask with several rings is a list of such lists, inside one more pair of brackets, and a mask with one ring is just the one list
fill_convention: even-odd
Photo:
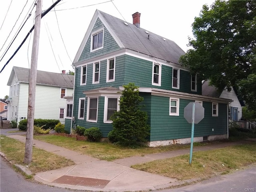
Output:
[[[202,96],[201,80],[181,66],[184,51],[172,40],[96,10],[74,59],[73,96],[67,96],[65,129],[98,127],[107,137],[110,116],[119,110],[122,86],[139,86],[150,125],[149,146],[189,143],[191,124],[184,107],[199,102],[204,119],[195,125],[194,141],[228,138],[228,103]],[[72,110],[73,109],[73,110]]]

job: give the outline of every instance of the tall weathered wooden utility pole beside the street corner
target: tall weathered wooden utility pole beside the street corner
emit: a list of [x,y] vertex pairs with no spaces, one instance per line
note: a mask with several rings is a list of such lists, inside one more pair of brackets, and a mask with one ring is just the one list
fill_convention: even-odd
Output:
[[36,98],[36,75],[37,75],[36,70],[37,70],[41,18],[42,18],[42,0],[37,0],[35,29],[34,29],[34,38],[33,38],[33,46],[32,46],[32,55],[31,55],[31,68],[30,68],[29,87],[28,87],[28,123],[27,123],[26,143],[25,143],[25,156],[24,156],[25,164],[30,164],[32,162],[34,113],[35,113],[35,98]]

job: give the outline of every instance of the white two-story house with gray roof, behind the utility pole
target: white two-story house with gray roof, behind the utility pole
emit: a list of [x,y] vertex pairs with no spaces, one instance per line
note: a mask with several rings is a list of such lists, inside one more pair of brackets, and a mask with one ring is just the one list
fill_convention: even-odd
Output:
[[[27,118],[28,114],[28,79],[29,69],[14,66],[7,85],[10,86],[7,120]],[[35,119],[58,119],[65,122],[66,99],[72,95],[74,76],[62,73],[37,71]]]

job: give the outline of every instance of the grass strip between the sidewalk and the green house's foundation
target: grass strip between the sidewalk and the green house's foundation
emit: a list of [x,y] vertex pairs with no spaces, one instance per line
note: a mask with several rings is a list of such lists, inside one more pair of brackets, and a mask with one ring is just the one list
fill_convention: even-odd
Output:
[[34,139],[61,146],[81,154],[87,154],[101,160],[112,161],[131,156],[145,156],[146,154],[161,153],[177,149],[190,148],[190,144],[170,145],[161,147],[128,148],[114,145],[108,142],[77,141],[76,138],[68,138],[56,135],[34,136]]

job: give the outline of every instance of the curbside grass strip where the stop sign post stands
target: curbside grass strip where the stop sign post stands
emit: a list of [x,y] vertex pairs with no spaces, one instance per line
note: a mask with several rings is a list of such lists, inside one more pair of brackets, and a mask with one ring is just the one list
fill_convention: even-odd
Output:
[[189,154],[164,160],[133,165],[132,168],[160,174],[178,180],[207,179],[218,174],[227,174],[256,163],[256,143],[194,152],[192,163]]

